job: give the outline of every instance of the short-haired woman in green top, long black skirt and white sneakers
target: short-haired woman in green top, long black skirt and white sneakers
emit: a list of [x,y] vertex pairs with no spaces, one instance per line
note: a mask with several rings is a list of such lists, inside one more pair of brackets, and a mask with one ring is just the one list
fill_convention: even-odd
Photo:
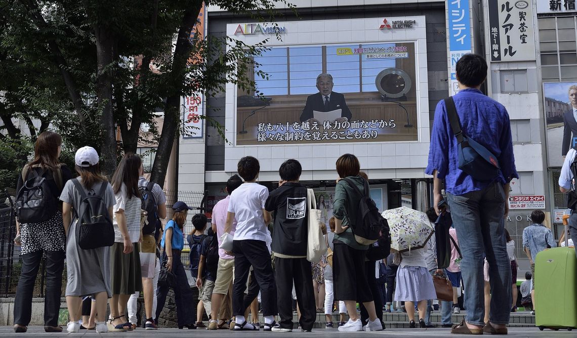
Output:
[[[349,321],[339,326],[339,331],[381,331],[383,325],[377,318],[374,309],[373,295],[370,292],[366,279],[365,255],[368,245],[357,242],[353,229],[350,226],[357,220],[359,201],[362,197],[357,192],[365,189],[365,179],[359,176],[361,165],[356,156],[344,154],[336,160],[336,172],[339,179],[335,186],[335,202],[333,215],[335,216],[335,239],[333,243],[333,280],[335,299],[344,301],[349,311]],[[346,179],[348,180],[346,180]],[[357,187],[351,186],[349,182]],[[364,303],[369,313],[366,325],[357,313],[357,301]]]

